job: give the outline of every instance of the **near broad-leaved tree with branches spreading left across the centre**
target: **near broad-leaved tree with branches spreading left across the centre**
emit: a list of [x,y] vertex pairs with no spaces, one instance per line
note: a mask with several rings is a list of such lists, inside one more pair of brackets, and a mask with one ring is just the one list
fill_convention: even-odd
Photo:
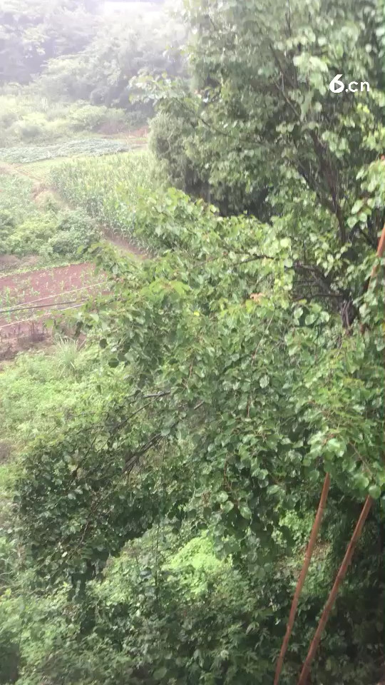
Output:
[[[176,530],[187,521],[210,528],[216,554],[230,557],[242,577],[252,568],[266,578],[291,558],[287,516],[314,508],[327,471],[334,483],[331,579],[356,504],[367,493],[381,498],[385,484],[381,294],[371,288],[361,300],[371,333],[362,338],[356,323],[346,335],[340,319],[319,304],[292,302],[293,248],[279,225],[268,231],[245,216],[223,220],[178,191],[163,205],[145,207],[137,230],[153,236],[163,256],[135,265],[97,252],[100,267],[111,273],[113,300],[99,303],[97,315],[90,304],[82,324],[98,331],[108,365],[125,367],[130,390],[121,389],[97,425],[73,425],[29,452],[19,484],[22,542],[44,582],[71,579],[85,592],[86,579],[100,574],[109,555],[166,517]],[[261,293],[252,298],[255,283]],[[380,516],[374,509],[370,525]],[[266,652],[263,644],[255,647],[245,684],[262,684],[274,666],[289,603],[279,582],[275,592],[283,593],[282,609],[272,600],[277,631],[273,636],[267,621],[270,646]],[[307,599],[299,657],[289,658],[287,682],[295,681],[322,597]],[[168,621],[164,607],[175,616],[173,602],[175,594],[163,602],[161,621]],[[366,608],[371,625],[376,607]],[[260,603],[256,611],[259,621]],[[204,641],[193,615],[197,641]],[[337,634],[340,629],[338,622]],[[349,637],[351,644],[356,639]],[[164,650],[165,643],[151,653],[145,677],[158,682],[188,673],[195,683],[212,671],[214,655],[207,652],[196,673],[186,661],[175,673],[173,651],[170,663],[159,661]],[[245,643],[240,659],[243,650]],[[315,666],[320,681],[328,670],[339,673],[337,654],[332,642],[324,649]],[[360,654],[346,681],[360,673],[369,685],[376,666],[365,670]],[[215,663],[219,679],[239,682],[237,659],[231,666],[227,657]]]

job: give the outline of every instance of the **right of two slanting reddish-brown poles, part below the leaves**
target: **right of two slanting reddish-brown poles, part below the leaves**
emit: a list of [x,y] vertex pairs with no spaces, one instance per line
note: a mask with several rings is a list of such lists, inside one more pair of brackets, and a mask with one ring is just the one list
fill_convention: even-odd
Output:
[[344,560],[343,560],[341,566],[339,567],[339,572],[337,573],[337,578],[334,581],[332,591],[330,592],[329,598],[327,599],[327,603],[325,604],[324,611],[322,612],[322,617],[319,620],[317,630],[314,634],[314,638],[312,639],[312,642],[309,646],[309,651],[307,653],[307,657],[306,657],[306,660],[304,662],[304,666],[303,666],[301,675],[299,676],[298,685],[306,685],[307,684],[307,678],[309,676],[310,666],[312,665],[312,661],[313,661],[314,656],[317,652],[319,642],[321,641],[321,637],[322,637],[322,633],[324,631],[324,627],[326,626],[327,620],[329,619],[330,612],[332,611],[332,609],[334,607],[334,602],[336,601],[336,598],[337,598],[339,586],[341,585],[341,583],[344,580],[344,577],[347,573],[347,569],[348,569],[349,564],[351,562],[351,557],[353,557],[354,549],[356,548],[356,544],[359,540],[362,529],[364,527],[364,523],[365,523],[366,518],[370,512],[372,504],[373,504],[373,499],[371,499],[371,497],[366,497],[364,507],[362,508],[360,517],[359,517],[357,524],[356,524],[356,527],[354,529],[354,533],[351,536],[349,545],[347,547],[347,552],[344,556]]

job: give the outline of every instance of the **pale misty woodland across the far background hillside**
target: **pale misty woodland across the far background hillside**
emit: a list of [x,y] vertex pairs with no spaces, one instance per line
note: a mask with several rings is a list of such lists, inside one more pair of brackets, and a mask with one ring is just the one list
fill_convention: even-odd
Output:
[[[183,73],[183,28],[161,4],[136,12],[127,4],[119,14],[104,11],[101,0],[1,0],[0,24],[0,86],[9,95],[22,84],[53,108],[58,99],[118,106],[131,125],[143,123],[152,107],[135,101],[131,79],[143,71]],[[35,114],[22,131],[27,138],[45,123]]]

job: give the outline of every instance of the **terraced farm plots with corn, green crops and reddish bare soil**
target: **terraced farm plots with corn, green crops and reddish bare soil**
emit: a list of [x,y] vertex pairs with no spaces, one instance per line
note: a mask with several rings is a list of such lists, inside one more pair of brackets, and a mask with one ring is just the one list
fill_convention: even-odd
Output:
[[[140,136],[144,136],[143,131]],[[84,178],[75,173],[80,163],[81,171],[84,168],[91,173],[88,183],[94,181],[96,173],[96,181],[113,181],[110,192],[119,182],[133,193],[131,186],[136,188],[147,173],[145,153],[127,152],[138,141],[143,142],[133,135],[126,141],[88,139],[63,146],[0,150],[0,359],[14,355],[20,346],[46,338],[44,322],[52,312],[78,308],[103,287],[103,277],[93,275],[90,263],[77,263],[78,245],[106,239],[119,251],[143,253],[132,244],[130,235],[116,231],[120,228],[116,211],[108,221],[100,211],[89,211],[83,196],[78,196]],[[111,156],[111,152],[115,154]],[[63,192],[68,191],[66,187],[60,188],[62,192],[53,189],[56,169],[58,178],[63,174],[68,179],[68,172],[74,178],[72,193]],[[111,169],[115,175],[106,178],[105,171]],[[103,189],[104,185],[97,188],[99,194]],[[121,211],[123,205],[120,202]],[[129,217],[131,212],[127,207]]]

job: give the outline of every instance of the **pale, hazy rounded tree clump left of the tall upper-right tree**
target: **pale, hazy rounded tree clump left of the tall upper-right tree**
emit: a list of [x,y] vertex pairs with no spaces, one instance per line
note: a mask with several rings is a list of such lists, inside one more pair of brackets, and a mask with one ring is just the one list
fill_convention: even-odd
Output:
[[143,120],[151,107],[135,103],[131,79],[142,71],[177,76],[183,71],[178,47],[183,31],[163,11],[103,16],[91,43],[82,52],[48,62],[39,88],[51,99],[88,100],[124,107],[132,122]]

